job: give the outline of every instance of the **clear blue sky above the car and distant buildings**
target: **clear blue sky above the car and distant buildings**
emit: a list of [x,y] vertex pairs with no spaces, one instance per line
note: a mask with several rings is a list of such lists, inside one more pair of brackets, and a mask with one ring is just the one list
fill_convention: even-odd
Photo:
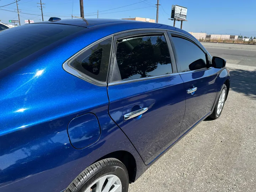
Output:
[[[143,1],[143,2],[142,2]],[[183,30],[188,32],[207,32],[207,34],[231,34],[256,36],[256,0],[243,0],[242,4],[235,0],[159,0],[159,23],[173,26],[168,20],[171,15],[171,6],[187,7],[187,20],[183,22]],[[9,20],[18,20],[15,0],[0,0],[0,22],[9,23]],[[40,0],[20,0],[18,9],[21,10],[21,25],[24,20],[42,21]],[[42,0],[44,20],[51,16],[62,19],[71,15],[80,16],[79,0]],[[156,19],[157,0],[84,0],[85,18],[134,18],[145,17]],[[4,7],[1,7],[4,6]],[[5,10],[9,11],[5,11]],[[29,15],[34,14],[34,15]],[[18,24],[18,23],[17,23]],[[180,28],[180,22],[176,21]]]

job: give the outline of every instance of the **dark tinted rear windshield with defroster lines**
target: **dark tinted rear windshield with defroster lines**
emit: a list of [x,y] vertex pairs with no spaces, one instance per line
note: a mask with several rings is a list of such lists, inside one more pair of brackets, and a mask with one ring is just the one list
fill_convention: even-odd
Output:
[[37,23],[3,30],[0,32],[0,70],[84,29],[79,26]]

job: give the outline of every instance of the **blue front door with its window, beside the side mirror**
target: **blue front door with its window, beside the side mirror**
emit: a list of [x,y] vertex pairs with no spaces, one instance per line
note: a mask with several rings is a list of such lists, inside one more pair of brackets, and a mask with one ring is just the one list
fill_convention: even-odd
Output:
[[168,32],[177,63],[177,69],[184,81],[186,110],[180,135],[207,117],[217,95],[217,72],[210,67],[207,53],[188,36]]

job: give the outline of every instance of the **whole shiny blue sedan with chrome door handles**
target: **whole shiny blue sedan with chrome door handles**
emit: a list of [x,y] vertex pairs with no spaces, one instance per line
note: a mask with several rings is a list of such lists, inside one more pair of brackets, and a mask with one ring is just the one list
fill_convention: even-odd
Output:
[[224,59],[158,23],[50,18],[0,42],[0,192],[127,192],[229,92]]

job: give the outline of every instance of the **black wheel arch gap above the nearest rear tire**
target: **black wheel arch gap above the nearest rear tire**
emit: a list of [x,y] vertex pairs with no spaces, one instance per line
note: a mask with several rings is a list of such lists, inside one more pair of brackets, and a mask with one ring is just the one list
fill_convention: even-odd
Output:
[[[106,159],[106,158],[116,158],[119,161],[121,161],[126,166],[126,169],[128,171],[129,182],[131,183],[131,182],[135,181],[135,177],[136,177],[136,173],[137,173],[137,164],[136,164],[136,160],[135,160],[134,156],[131,153],[129,153],[128,151],[123,151],[123,150],[114,151],[112,153],[104,155],[102,158],[96,160],[95,162],[100,161],[102,159]],[[94,164],[94,163],[92,163],[92,164]]]

